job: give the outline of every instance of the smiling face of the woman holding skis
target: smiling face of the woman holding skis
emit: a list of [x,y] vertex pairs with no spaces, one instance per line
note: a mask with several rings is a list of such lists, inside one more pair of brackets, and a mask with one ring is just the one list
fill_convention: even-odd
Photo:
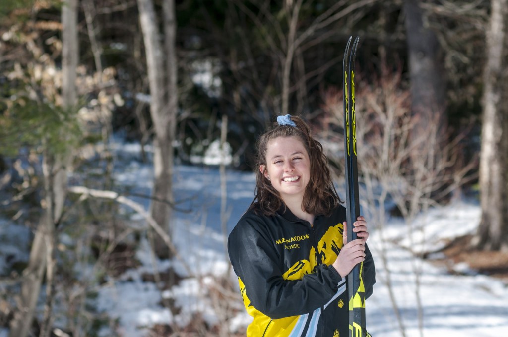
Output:
[[307,150],[296,137],[270,140],[266,150],[266,166],[260,165],[265,178],[279,192],[285,203],[303,200],[310,181],[310,160]]

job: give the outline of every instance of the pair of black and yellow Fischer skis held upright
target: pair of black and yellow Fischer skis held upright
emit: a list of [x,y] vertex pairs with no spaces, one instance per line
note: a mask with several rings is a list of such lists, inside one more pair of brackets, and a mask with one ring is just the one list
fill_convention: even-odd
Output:
[[[355,58],[360,37],[356,37],[351,46],[352,40],[353,37],[350,37],[347,41],[342,62],[347,242],[357,239],[357,235],[352,229],[353,222],[360,215],[355,113]],[[370,333],[365,329],[363,262],[357,264],[351,273],[347,275],[347,289],[349,298],[349,335],[350,337],[370,337]]]

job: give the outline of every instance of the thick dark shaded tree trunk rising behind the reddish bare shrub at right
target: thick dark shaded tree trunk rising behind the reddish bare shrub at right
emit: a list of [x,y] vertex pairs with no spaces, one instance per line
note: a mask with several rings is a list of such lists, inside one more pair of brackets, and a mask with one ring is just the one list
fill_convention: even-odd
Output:
[[[420,0],[405,0],[405,25],[411,78],[412,113],[419,115],[420,126],[444,116],[446,88],[443,79],[443,55],[439,42],[425,22]],[[446,119],[439,117],[446,129]],[[423,127],[425,129],[425,127]],[[437,130],[440,134],[439,130]]]

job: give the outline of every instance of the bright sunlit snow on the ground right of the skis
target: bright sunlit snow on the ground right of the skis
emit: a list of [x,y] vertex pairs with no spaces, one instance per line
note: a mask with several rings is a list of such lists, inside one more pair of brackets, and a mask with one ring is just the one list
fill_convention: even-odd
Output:
[[[443,239],[470,233],[480,219],[476,204],[455,203],[425,216],[425,233],[433,247],[439,247]],[[407,238],[404,227],[388,228],[385,238]],[[374,293],[367,300],[368,329],[372,335],[394,336],[399,326],[390,301],[387,269],[379,258],[382,244],[379,233],[373,232],[369,244],[376,261]],[[426,247],[432,250],[431,246]],[[425,336],[500,336],[508,333],[508,288],[496,279],[477,275],[464,265],[456,265],[456,271],[464,275],[450,275],[427,261],[415,259],[403,246],[387,244],[388,265],[393,289],[397,296],[403,324],[408,336],[419,336],[417,289],[423,310]],[[419,270],[420,286],[415,274]]]

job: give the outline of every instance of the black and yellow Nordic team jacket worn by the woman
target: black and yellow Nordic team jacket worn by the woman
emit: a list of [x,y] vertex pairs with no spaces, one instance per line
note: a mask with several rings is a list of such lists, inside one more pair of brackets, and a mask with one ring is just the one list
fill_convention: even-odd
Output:
[[[342,243],[346,210],[318,215],[311,226],[289,209],[274,216],[247,211],[229,235],[228,251],[247,313],[248,337],[348,335],[346,279],[332,263]],[[365,295],[375,282],[368,248]]]

